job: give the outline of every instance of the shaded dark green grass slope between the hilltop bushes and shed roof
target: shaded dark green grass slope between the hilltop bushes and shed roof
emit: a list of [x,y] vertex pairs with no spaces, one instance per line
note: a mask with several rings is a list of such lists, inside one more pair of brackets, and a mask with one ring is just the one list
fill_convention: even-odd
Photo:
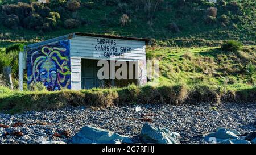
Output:
[[[230,0],[226,1],[229,2]],[[255,2],[251,0],[238,1],[243,9],[242,14],[228,11],[225,7],[215,5],[218,8],[217,18],[226,14],[230,18],[238,19],[239,22],[232,20],[227,27],[220,24],[205,25],[205,10],[210,6],[193,4],[177,9],[170,4],[163,6],[156,12],[152,26],[147,24],[145,13],[134,11],[132,6],[127,7],[130,12],[131,23],[121,27],[119,18],[123,12],[116,11],[118,6],[105,6],[102,3],[95,3],[92,0],[82,0],[82,3],[92,2],[91,7],[81,7],[79,15],[88,21],[88,24],[73,30],[60,28],[57,31],[46,32],[39,35],[38,32],[30,30],[10,30],[0,24],[0,45],[12,44],[17,41],[36,42],[52,37],[65,35],[71,32],[102,33],[121,36],[150,37],[156,39],[158,45],[217,45],[226,39],[236,39],[247,43],[255,43]],[[168,2],[168,1],[166,1]],[[180,26],[180,33],[173,33],[166,27],[170,22],[175,22]],[[234,28],[232,24],[236,24]]]

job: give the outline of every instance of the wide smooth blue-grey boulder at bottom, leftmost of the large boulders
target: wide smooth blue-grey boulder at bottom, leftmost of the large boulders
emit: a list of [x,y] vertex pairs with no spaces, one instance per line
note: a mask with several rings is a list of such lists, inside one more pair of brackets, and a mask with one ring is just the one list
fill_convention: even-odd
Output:
[[75,144],[118,144],[133,143],[129,136],[119,135],[106,129],[91,126],[83,127],[75,136],[72,137]]

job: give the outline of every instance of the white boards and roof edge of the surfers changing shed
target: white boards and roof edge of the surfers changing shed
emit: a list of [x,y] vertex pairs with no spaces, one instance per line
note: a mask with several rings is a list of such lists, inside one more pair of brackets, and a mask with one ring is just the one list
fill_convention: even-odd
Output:
[[[64,40],[70,41],[72,89],[81,89],[82,59],[113,60],[114,58],[119,61],[133,61],[142,64],[141,70],[146,70],[146,66],[143,64],[146,62],[146,45],[150,39],[77,32],[27,45],[24,47],[24,64],[26,64],[26,51],[44,45],[53,45]],[[24,68],[26,68],[26,65]],[[143,72],[143,76],[145,76],[144,74],[145,72]]]

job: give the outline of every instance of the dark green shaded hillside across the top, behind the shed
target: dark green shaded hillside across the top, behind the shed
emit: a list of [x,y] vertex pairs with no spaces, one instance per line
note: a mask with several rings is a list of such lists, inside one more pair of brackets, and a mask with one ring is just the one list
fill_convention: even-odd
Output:
[[[8,2],[14,3],[2,1],[2,5]],[[218,3],[209,3],[206,0],[166,0],[159,1],[158,5],[157,0],[152,0],[150,6],[156,7],[155,10],[147,9],[146,2],[82,0],[75,15],[72,13],[71,16],[84,20],[84,24],[73,29],[60,26],[51,32],[39,32],[28,28],[11,30],[0,24],[0,45],[3,47],[14,42],[46,40],[71,32],[148,37],[155,39],[156,44],[166,46],[216,46],[226,39],[255,44],[256,3],[253,0],[226,0],[217,1]],[[214,18],[207,18],[209,7],[217,8]],[[51,11],[59,10],[52,7]],[[127,14],[129,22],[121,27],[119,20],[123,14]],[[226,15],[228,21],[222,15]],[[179,32],[174,32],[170,24],[173,22],[179,27]]]

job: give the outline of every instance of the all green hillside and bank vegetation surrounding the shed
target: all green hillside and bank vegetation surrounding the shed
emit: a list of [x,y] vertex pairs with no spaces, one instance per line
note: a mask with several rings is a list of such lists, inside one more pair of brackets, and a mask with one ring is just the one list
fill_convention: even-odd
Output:
[[[18,51],[25,44],[71,32],[150,37],[147,58],[159,60],[160,75],[159,83],[152,80],[144,87],[49,92],[36,83],[30,87],[34,91],[20,92],[8,89],[0,74],[0,110],[45,110],[68,104],[255,102],[253,0],[1,2],[0,69],[11,66],[15,89]],[[5,20],[16,23],[8,26]]]

